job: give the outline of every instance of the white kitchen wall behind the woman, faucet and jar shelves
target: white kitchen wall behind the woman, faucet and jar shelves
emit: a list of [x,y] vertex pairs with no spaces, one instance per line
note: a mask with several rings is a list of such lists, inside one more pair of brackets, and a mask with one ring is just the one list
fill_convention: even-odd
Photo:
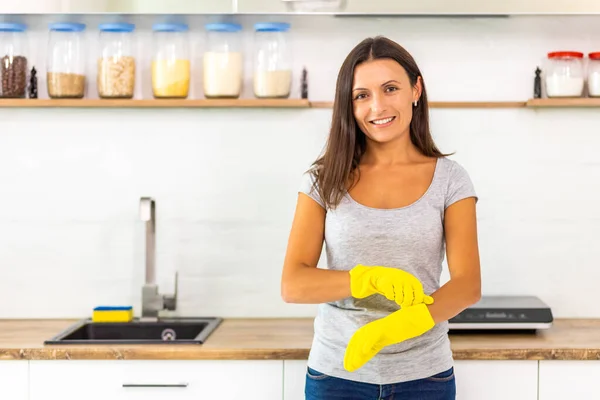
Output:
[[[248,45],[259,19],[239,19]],[[548,51],[600,50],[600,17],[286,19],[312,100],[333,98],[343,58],[370,35],[388,35],[415,56],[430,100],[526,100]],[[103,19],[85,21],[93,51]],[[49,20],[26,22],[46,97]],[[153,19],[134,22],[136,97],[150,98]],[[189,22],[198,78],[206,20]],[[93,77],[88,97],[96,97]],[[196,79],[191,97],[201,96]],[[157,200],[158,281],[170,292],[180,272],[180,314],[314,315],[312,305],[281,301],[279,279],[300,175],[321,150],[330,116],[328,109],[0,108],[0,317],[81,317],[100,304],[139,311],[140,196]],[[600,317],[598,110],[433,109],[431,121],[480,195],[484,293],[538,295],[558,317]]]

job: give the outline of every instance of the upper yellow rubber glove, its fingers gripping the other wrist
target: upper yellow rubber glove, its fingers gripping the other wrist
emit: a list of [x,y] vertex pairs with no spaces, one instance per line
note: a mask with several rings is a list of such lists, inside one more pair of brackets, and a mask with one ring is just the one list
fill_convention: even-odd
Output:
[[421,282],[398,268],[358,264],[350,270],[350,290],[359,299],[379,293],[402,307],[433,304],[433,298],[423,292]]

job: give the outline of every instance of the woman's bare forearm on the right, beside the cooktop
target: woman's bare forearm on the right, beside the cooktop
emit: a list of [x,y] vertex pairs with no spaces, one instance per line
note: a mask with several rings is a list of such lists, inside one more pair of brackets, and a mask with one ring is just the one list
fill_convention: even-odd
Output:
[[428,306],[429,312],[437,324],[455,317],[479,301],[481,287],[473,283],[473,279],[454,278],[434,292],[431,297],[434,303]]

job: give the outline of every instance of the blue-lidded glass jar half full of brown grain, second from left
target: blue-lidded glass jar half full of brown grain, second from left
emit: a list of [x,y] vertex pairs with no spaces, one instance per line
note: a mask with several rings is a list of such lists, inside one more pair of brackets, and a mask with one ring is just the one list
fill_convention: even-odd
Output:
[[51,98],[82,98],[85,93],[85,24],[50,24],[46,80]]

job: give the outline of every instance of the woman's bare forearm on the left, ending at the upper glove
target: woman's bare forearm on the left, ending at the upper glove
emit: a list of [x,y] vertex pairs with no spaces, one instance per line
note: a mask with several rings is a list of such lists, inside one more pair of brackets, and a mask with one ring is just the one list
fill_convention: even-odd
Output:
[[318,304],[351,296],[348,271],[310,266],[294,268],[284,276],[281,297],[286,303]]

